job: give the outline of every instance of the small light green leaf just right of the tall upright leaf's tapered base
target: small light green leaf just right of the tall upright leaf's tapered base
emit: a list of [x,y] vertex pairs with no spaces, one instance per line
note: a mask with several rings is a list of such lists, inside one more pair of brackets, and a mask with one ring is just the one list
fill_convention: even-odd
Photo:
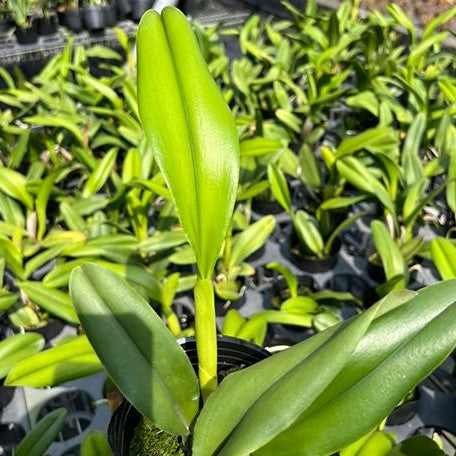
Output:
[[273,215],[267,215],[247,229],[236,234],[232,239],[228,268],[240,265],[247,257],[262,247],[271,236],[276,226]]

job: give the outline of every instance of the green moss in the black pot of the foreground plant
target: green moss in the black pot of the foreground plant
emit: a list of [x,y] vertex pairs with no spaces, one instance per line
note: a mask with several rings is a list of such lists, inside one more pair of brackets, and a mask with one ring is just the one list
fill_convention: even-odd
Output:
[[185,456],[180,438],[142,418],[130,444],[130,456]]

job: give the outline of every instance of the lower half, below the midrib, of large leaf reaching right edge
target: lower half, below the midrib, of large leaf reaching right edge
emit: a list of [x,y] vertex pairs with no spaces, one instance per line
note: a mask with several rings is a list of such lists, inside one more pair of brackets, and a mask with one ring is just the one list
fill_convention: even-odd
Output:
[[[454,350],[455,328],[456,305],[453,302],[375,369],[331,402],[305,413],[258,454],[272,456],[280,451],[289,456],[329,455],[369,432]],[[302,449],[293,450],[300,443]]]

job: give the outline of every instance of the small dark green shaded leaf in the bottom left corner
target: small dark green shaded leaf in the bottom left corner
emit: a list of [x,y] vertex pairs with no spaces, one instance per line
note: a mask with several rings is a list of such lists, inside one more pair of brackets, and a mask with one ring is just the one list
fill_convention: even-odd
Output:
[[43,456],[59,435],[67,416],[68,412],[64,408],[44,416],[22,439],[14,450],[14,456]]

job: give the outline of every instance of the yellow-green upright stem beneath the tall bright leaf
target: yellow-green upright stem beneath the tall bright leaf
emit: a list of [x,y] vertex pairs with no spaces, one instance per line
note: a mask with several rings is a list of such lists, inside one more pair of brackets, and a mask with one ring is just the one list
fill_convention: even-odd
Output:
[[194,295],[198,377],[203,400],[206,400],[217,388],[217,330],[212,280],[198,277]]

